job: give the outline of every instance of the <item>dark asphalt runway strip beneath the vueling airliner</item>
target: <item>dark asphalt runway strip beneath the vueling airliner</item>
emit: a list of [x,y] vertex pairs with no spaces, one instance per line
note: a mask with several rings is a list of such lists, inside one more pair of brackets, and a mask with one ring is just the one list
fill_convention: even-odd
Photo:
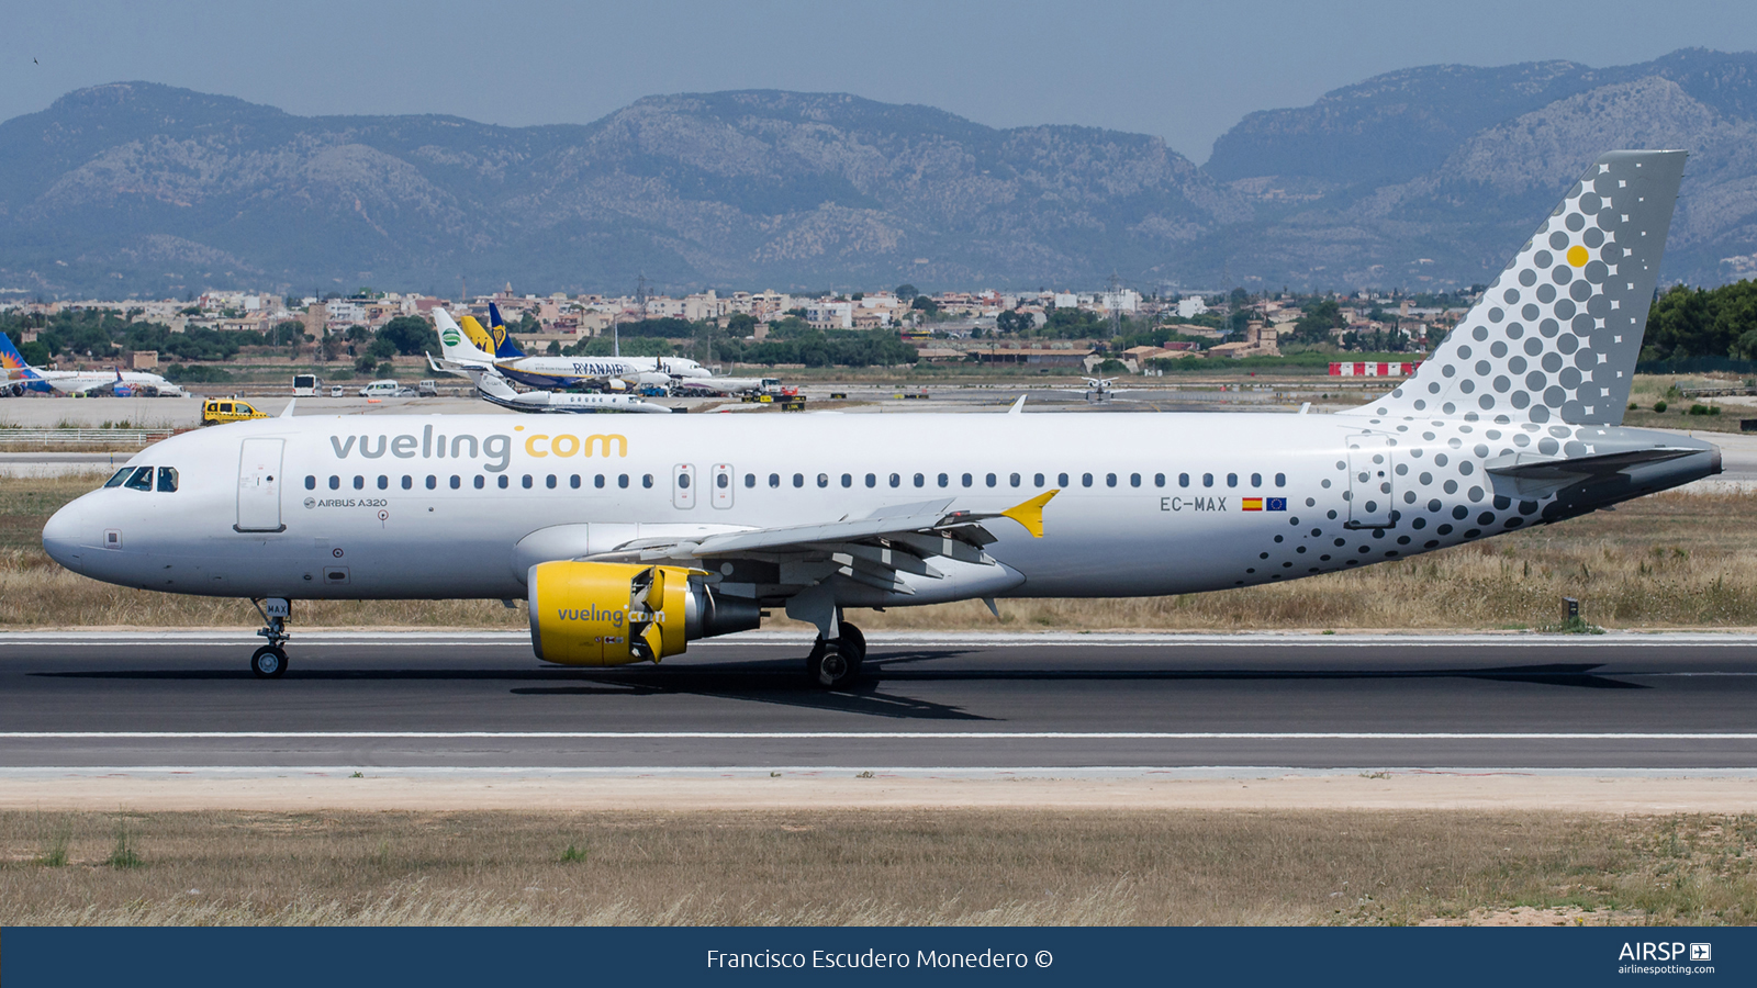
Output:
[[873,636],[545,666],[522,635],[0,635],[0,774],[155,768],[1757,770],[1757,638]]

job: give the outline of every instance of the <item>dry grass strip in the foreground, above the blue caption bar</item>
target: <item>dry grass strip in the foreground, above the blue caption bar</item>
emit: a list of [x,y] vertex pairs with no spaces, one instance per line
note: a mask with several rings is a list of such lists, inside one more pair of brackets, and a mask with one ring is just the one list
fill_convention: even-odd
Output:
[[1750,923],[1757,817],[0,814],[0,925]]

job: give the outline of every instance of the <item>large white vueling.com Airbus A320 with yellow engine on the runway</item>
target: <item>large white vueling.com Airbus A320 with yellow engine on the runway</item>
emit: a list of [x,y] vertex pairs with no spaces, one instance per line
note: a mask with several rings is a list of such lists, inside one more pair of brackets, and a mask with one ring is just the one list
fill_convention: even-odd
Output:
[[1681,151],[1611,151],[1420,371],[1337,415],[302,417],[188,432],[44,527],[63,566],[265,601],[517,598],[538,657],[622,665],[850,607],[1186,594],[1557,522],[1720,471],[1622,427]]

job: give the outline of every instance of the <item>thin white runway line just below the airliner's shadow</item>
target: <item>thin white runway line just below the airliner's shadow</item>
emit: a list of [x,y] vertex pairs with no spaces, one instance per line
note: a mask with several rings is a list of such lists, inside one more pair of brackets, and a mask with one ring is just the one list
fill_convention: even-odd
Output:
[[1757,740],[1757,731],[0,731],[0,740]]

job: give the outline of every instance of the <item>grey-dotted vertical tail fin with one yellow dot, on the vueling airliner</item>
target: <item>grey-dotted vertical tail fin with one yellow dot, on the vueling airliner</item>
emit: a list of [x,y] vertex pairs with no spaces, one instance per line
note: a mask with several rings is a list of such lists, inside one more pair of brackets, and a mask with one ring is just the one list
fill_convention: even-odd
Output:
[[1683,151],[1608,151],[1434,355],[1355,415],[1620,425]]

